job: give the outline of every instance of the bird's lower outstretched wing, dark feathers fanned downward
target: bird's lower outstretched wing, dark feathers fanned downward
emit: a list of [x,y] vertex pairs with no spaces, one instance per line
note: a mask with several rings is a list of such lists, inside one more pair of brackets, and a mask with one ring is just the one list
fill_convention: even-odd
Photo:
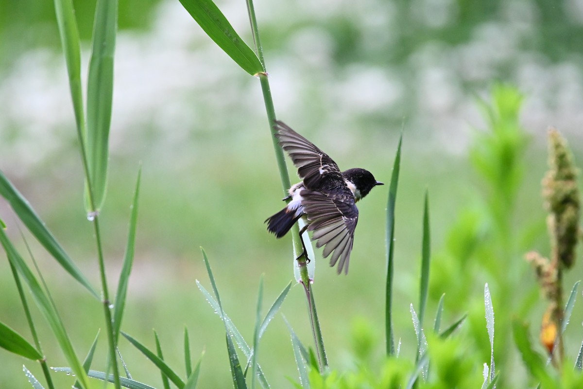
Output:
[[338,274],[344,269],[348,273],[350,251],[354,240],[354,229],[359,220],[359,210],[354,197],[346,188],[345,194],[330,197],[318,191],[302,190],[302,204],[308,216],[308,230],[313,231],[316,247],[324,247],[324,258],[332,254],[330,266],[338,262]]

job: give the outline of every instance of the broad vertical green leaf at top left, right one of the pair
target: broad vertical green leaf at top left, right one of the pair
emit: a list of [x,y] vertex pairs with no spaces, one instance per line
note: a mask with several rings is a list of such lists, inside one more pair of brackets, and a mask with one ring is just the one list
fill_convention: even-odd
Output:
[[[113,100],[113,57],[117,30],[117,0],[98,0],[93,25],[93,51],[87,78],[87,159],[93,203],[97,212],[107,187],[108,139]],[[87,199],[89,200],[89,199]]]

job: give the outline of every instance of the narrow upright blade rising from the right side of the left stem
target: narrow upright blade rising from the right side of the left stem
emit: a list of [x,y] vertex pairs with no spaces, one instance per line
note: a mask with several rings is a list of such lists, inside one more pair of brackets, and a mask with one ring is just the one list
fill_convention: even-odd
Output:
[[136,242],[136,225],[138,223],[138,198],[140,192],[140,181],[142,177],[142,168],[138,170],[138,178],[136,179],[136,187],[134,190],[134,198],[130,207],[129,215],[129,231],[128,241],[125,245],[124,264],[121,267],[120,281],[117,284],[117,292],[115,292],[115,303],[113,311],[113,332],[115,344],[120,337],[121,321],[124,316],[125,298],[128,294],[129,274],[132,272],[132,264],[134,264],[135,242]]

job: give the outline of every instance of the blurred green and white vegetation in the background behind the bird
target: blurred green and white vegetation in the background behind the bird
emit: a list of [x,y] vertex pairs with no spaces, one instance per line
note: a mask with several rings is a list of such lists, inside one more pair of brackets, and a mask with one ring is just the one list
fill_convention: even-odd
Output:
[[[94,1],[74,3],[86,71]],[[217,5],[250,43],[244,2]],[[505,306],[505,313],[531,320],[536,337],[545,303],[538,300],[522,253],[548,252],[540,180],[549,125],[566,135],[579,166],[583,162],[583,1],[259,0],[255,9],[280,120],[328,152],[341,169],[364,167],[385,183],[399,132],[405,131],[394,301],[395,335],[409,345],[403,347],[405,357],[414,358],[416,344],[409,304],[418,300],[426,188],[434,253],[428,312],[446,293],[444,320],[451,323],[469,311],[462,331],[473,334],[477,347],[487,345],[483,286],[489,282],[494,310]],[[201,387],[229,387],[224,329],[195,285],[195,279],[208,283],[199,247],[209,255],[224,308],[248,339],[259,275],[265,274],[266,301],[293,277],[289,237],[276,240],[264,226],[283,203],[259,83],[206,37],[178,1],[121,0],[119,24],[110,181],[101,213],[111,285],[121,266],[140,163],[143,169],[137,251],[122,328],[150,346],[155,328],[164,356],[178,369],[186,325],[193,354],[205,351]],[[489,185],[472,167],[470,150],[488,127],[477,101],[490,101],[497,81],[523,94],[520,122],[528,134],[524,160],[518,162],[515,208],[508,215],[513,241],[511,250],[503,250],[507,268],[494,258],[495,250],[474,250],[496,234],[496,223],[480,219]],[[50,1],[0,0],[0,169],[97,285],[73,111]],[[349,275],[336,275],[317,258],[318,314],[330,364],[338,369],[352,366],[363,345],[370,344],[378,360],[384,352],[387,186],[359,203]],[[3,201],[0,216],[12,217]],[[9,234],[19,240],[14,229]],[[468,255],[460,265],[455,256],[463,239]],[[43,250],[35,244],[32,249],[84,355],[103,327],[101,306],[68,281]],[[502,267],[488,271],[489,260]],[[465,268],[474,261],[485,264]],[[566,276],[567,290],[581,278],[581,254],[577,261]],[[26,334],[8,264],[0,269],[0,320]],[[304,344],[311,344],[301,286],[291,290],[282,313]],[[80,320],[92,325],[75,325]],[[566,340],[573,358],[582,320],[575,309]],[[40,330],[50,366],[64,365],[48,330]],[[483,349],[487,362],[489,348]],[[160,386],[159,375],[137,351],[124,341],[121,351],[135,379]],[[519,366],[511,342],[498,342],[496,353]],[[0,350],[0,387],[29,387],[22,363]],[[296,376],[289,333],[279,316],[265,334],[259,363],[273,387],[290,386],[286,377]],[[38,369],[27,367],[33,373]],[[507,379],[520,381],[524,375],[517,367]]]

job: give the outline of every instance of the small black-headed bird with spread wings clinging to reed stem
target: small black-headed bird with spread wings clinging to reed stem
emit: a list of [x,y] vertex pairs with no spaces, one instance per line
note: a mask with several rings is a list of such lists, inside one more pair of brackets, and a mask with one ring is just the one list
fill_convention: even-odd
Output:
[[[269,232],[277,238],[284,236],[298,219],[304,218],[312,232],[316,247],[324,246],[324,258],[332,254],[330,266],[338,263],[337,272],[348,274],[350,252],[354,241],[354,229],[359,220],[356,202],[378,185],[368,170],[353,168],[340,171],[338,164],[325,152],[291,129],[282,121],[275,121],[276,138],[290,156],[301,181],[292,185],[285,208],[265,220]],[[303,240],[300,239],[302,245]],[[307,253],[304,251],[297,258]]]

